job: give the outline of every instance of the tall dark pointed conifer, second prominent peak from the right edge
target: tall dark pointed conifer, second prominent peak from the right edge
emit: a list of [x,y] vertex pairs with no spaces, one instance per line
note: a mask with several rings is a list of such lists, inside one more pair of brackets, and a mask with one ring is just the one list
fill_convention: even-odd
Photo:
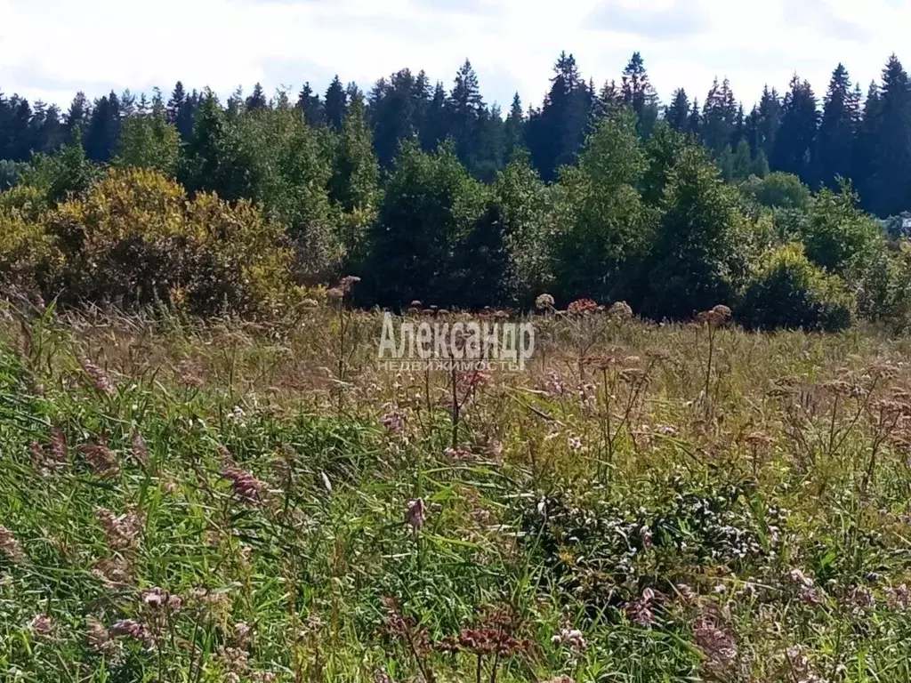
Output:
[[816,141],[818,178],[831,189],[838,188],[838,177],[850,177],[859,107],[847,69],[839,64],[825,94]]

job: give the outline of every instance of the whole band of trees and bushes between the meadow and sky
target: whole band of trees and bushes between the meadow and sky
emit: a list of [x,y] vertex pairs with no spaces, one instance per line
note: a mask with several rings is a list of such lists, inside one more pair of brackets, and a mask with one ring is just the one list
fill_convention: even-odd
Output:
[[911,85],[838,65],[749,113],[727,79],[660,103],[642,56],[597,87],[561,54],[540,107],[403,69],[363,93],[178,83],[67,112],[0,98],[0,282],[63,304],[261,316],[356,275],[404,309],[716,304],[748,328],[904,330]]

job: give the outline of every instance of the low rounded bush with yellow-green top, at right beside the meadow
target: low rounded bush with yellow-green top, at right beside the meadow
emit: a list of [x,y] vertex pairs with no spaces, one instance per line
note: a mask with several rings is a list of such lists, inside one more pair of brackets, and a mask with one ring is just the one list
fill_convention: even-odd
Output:
[[851,326],[853,311],[842,280],[814,266],[802,245],[789,244],[769,254],[736,318],[753,330],[840,331]]

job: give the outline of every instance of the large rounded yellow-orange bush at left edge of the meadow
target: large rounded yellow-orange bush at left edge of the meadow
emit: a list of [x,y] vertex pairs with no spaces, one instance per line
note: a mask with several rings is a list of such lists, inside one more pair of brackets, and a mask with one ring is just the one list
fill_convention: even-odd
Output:
[[248,201],[188,201],[148,169],[114,169],[47,214],[46,233],[65,266],[53,289],[64,303],[121,307],[167,302],[195,314],[275,312],[296,293],[292,250],[280,226]]

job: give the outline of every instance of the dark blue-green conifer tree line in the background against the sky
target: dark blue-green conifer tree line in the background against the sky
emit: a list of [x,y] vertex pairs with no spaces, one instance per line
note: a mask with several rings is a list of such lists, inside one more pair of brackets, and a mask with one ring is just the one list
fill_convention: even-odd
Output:
[[[24,97],[0,94],[0,159],[23,162],[35,152],[51,153],[79,127],[88,158],[106,163],[118,153],[120,129],[156,103],[186,144],[206,97],[187,92],[182,83],[166,104],[158,92],[151,102],[129,91],[95,102],[78,93],[63,113],[54,105],[32,107]],[[551,182],[560,167],[575,162],[597,121],[611,108],[627,106],[638,117],[643,139],[664,120],[699,139],[726,179],[782,171],[813,189],[835,189],[838,178],[849,178],[865,210],[885,218],[911,209],[911,85],[896,56],[885,65],[881,83],[871,83],[865,93],[839,64],[821,101],[795,75],[783,95],[765,87],[749,111],[728,80],[717,78],[701,101],[680,88],[662,106],[640,53],[630,58],[619,81],[602,87],[581,76],[572,55],[561,54],[542,104],[526,110],[517,94],[506,116],[496,104],[486,104],[467,60],[448,91],[443,83],[432,84],[425,72],[405,68],[379,79],[367,94],[353,83],[344,86],[338,76],[322,97],[307,83],[295,107],[308,124],[339,132],[355,102],[364,108],[374,154],[384,169],[392,166],[403,140],[416,139],[433,151],[452,138],[459,161],[475,178],[493,181],[517,148],[527,148],[532,166]],[[226,108],[236,113],[272,104],[257,84],[247,97],[236,91]],[[6,165],[0,182],[8,183],[14,169]]]

